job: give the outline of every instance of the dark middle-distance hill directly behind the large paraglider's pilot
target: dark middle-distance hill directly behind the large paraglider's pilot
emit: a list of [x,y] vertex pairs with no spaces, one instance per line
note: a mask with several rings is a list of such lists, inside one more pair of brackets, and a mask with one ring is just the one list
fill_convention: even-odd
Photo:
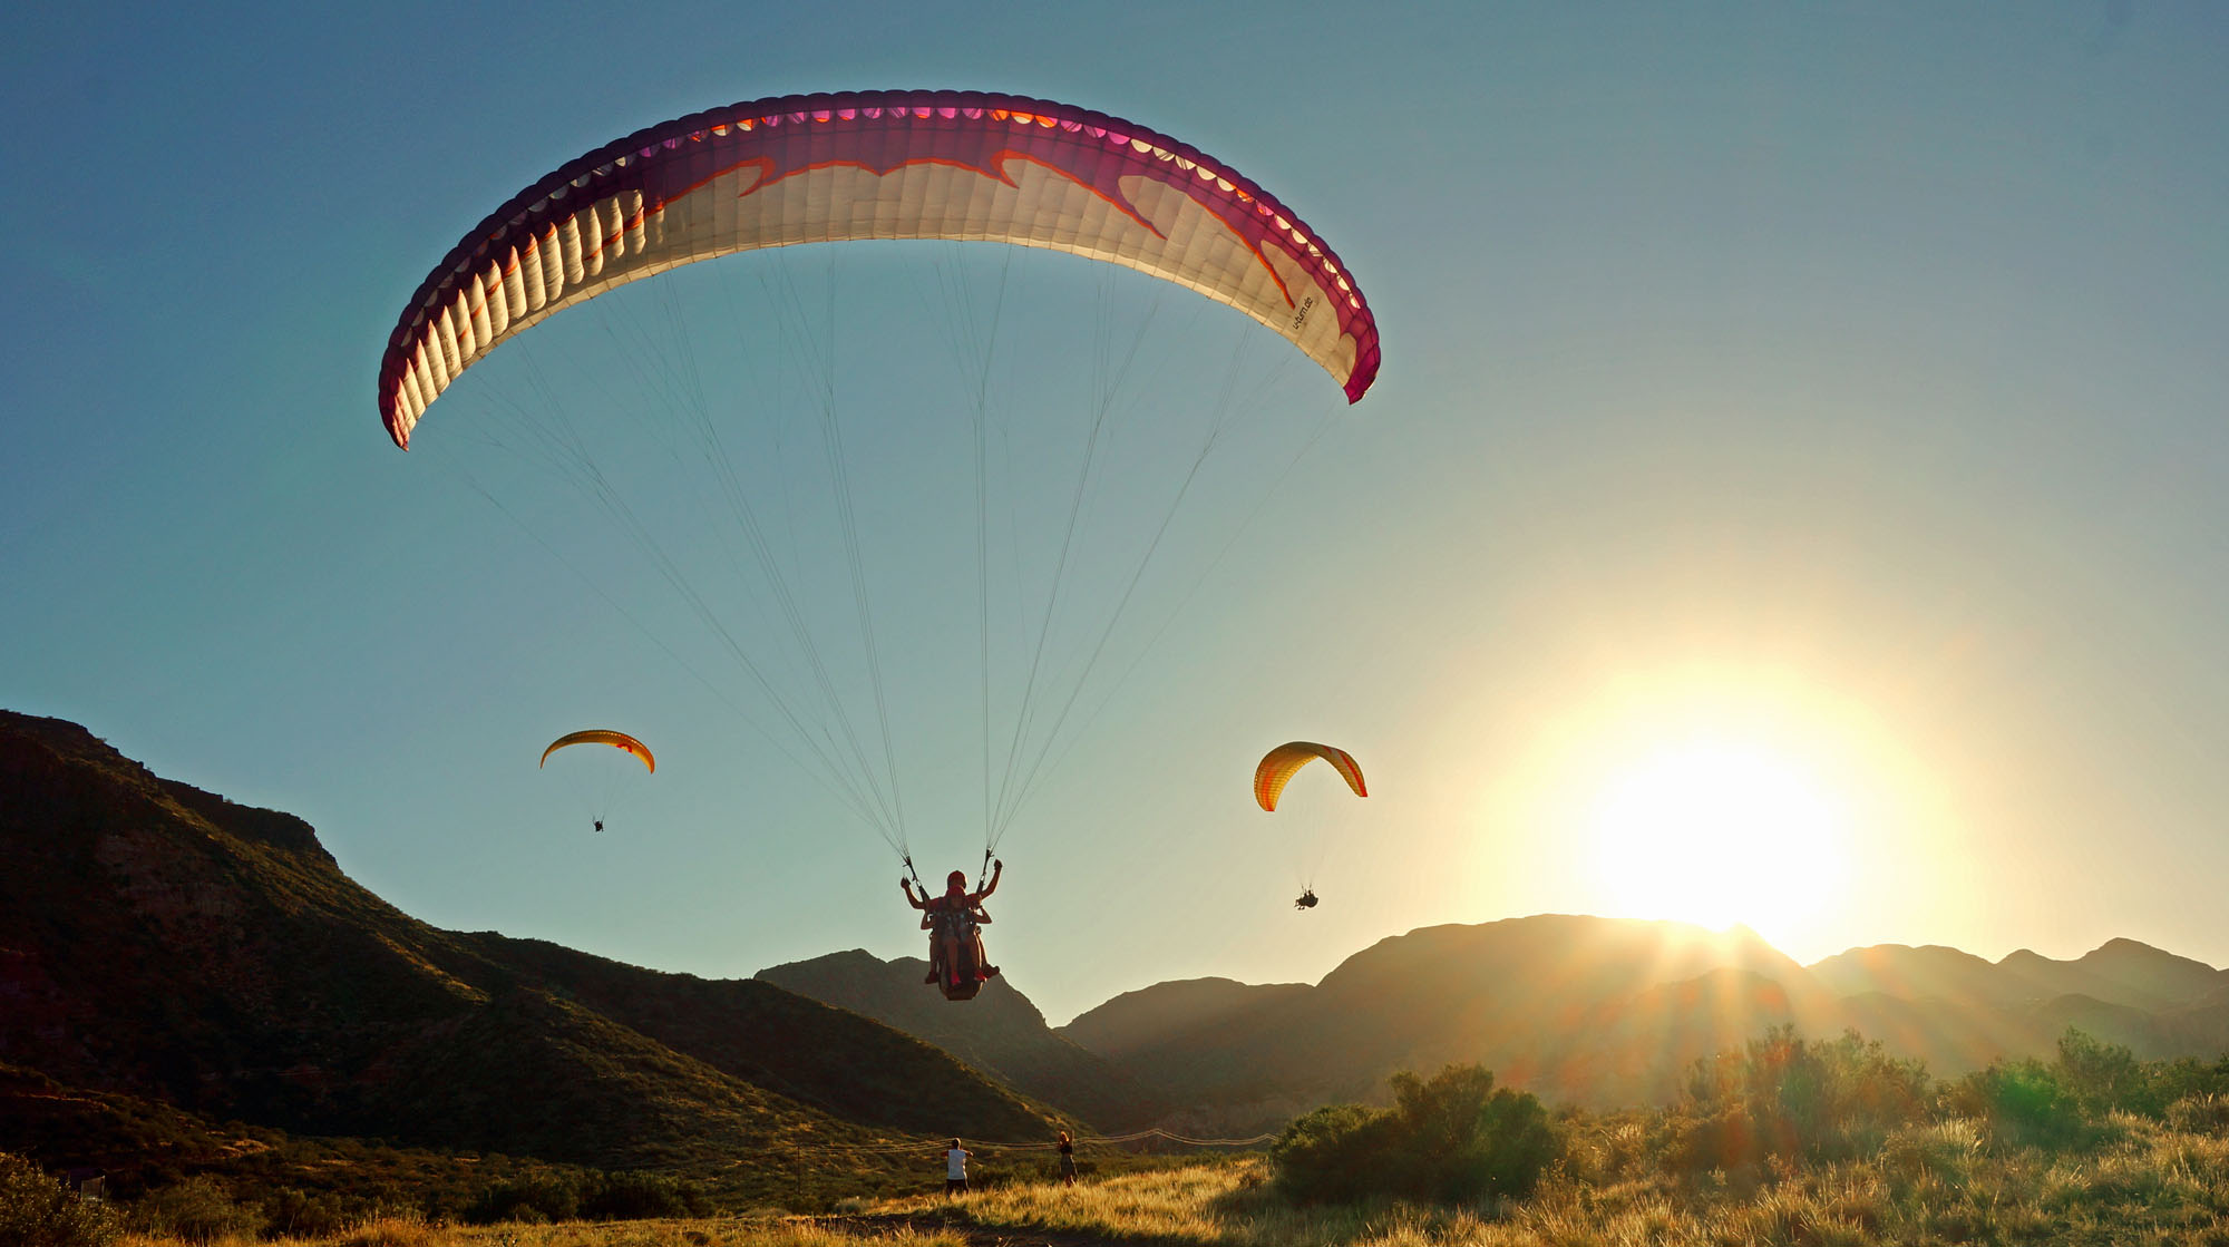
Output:
[[771,966],[758,978],[932,1042],[1103,1131],[1139,1127],[1166,1111],[1155,1091],[1045,1027],[1036,1004],[1003,975],[954,1004],[921,982],[927,973],[918,958],[885,962],[851,949]]

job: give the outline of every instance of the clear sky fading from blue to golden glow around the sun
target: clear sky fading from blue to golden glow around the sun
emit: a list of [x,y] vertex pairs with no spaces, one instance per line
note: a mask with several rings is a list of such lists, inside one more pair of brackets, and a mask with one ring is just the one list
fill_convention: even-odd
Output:
[[[2140,0],[33,4],[0,47],[0,706],[303,815],[441,926],[704,975],[918,955],[889,851],[651,641],[680,606],[399,454],[374,381],[457,236],[611,138],[1012,91],[1255,178],[1384,334],[1351,410],[1279,374],[1257,492],[1201,503],[1199,588],[1003,846],[994,958],[1054,1022],[1542,911],[2229,964],[2225,60],[2229,9]],[[851,307],[892,354],[847,345],[847,385],[912,385],[907,316]],[[874,505],[907,530],[903,488]],[[914,603],[972,575],[947,554],[878,554],[927,637],[901,668],[974,670]],[[896,710],[925,873],[976,855],[972,679]],[[604,835],[533,766],[582,726],[660,753]],[[1255,811],[1295,737],[1373,795]]]

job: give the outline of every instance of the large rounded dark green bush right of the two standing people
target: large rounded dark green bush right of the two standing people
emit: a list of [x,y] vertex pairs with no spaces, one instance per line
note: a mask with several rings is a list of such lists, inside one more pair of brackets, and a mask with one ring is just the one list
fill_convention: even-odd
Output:
[[1389,1111],[1333,1104],[1300,1118],[1271,1160],[1279,1189],[1302,1202],[1476,1202],[1531,1194],[1560,1153],[1540,1100],[1449,1064],[1429,1080],[1395,1073]]

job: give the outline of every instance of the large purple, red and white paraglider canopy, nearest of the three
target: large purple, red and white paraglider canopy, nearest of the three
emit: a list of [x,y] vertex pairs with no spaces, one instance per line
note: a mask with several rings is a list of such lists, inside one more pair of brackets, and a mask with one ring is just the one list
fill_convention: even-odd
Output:
[[1355,401],[1378,323],[1291,209],[1195,147],[979,91],[782,96],[653,125],[495,209],[419,285],[379,367],[395,445],[457,374],[575,303],[702,258],[849,238],[1048,247],[1284,334]]

